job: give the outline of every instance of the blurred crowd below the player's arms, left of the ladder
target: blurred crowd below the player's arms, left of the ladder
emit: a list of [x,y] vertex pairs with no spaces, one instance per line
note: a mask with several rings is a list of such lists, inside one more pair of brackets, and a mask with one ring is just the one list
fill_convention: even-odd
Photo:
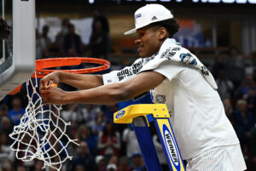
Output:
[[[21,97],[22,95],[22,97]],[[25,92],[6,98],[0,105],[0,170],[1,171],[41,171],[44,162],[33,160],[22,162],[10,150],[14,142],[9,138],[20,117],[25,113]],[[73,157],[62,165],[61,171],[131,171],[145,170],[143,157],[137,145],[135,134],[127,125],[113,123],[116,105],[63,105],[61,118],[67,123],[67,135],[76,139],[78,145],[69,144],[67,151]],[[65,143],[65,140],[62,141]],[[54,142],[49,142],[52,145]],[[22,147],[20,147],[22,148]],[[22,151],[18,156],[22,157]],[[66,157],[61,153],[60,157]],[[46,170],[55,170],[47,168]]]

